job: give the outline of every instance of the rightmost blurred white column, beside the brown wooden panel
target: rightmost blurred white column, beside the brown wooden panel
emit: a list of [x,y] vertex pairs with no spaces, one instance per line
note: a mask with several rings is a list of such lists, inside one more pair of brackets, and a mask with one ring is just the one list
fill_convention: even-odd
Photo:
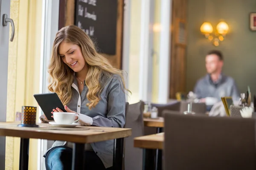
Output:
[[166,103],[169,99],[170,51],[172,23],[172,0],[161,1],[161,33],[159,55],[159,93],[158,102]]

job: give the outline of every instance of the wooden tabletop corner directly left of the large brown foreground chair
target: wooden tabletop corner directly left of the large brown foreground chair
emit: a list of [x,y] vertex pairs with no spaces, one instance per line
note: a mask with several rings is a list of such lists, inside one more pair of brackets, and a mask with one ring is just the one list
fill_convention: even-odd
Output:
[[144,149],[163,149],[164,133],[134,138],[134,147]]

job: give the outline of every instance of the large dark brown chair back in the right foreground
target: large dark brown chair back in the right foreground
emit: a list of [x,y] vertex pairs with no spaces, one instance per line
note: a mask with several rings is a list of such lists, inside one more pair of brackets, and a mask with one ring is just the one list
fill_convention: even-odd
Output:
[[165,170],[255,170],[255,119],[175,113],[164,119]]

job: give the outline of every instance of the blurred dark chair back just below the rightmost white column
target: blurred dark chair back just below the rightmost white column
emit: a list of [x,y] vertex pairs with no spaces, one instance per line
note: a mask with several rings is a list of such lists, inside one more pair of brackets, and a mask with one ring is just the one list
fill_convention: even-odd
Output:
[[175,101],[167,104],[151,104],[152,107],[156,107],[158,110],[158,116],[163,116],[163,110],[169,110],[169,111],[180,111],[180,102]]

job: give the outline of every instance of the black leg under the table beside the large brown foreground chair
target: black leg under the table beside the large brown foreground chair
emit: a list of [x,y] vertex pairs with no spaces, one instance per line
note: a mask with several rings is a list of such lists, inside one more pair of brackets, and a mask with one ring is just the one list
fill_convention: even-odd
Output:
[[143,149],[143,170],[154,170],[154,149]]

